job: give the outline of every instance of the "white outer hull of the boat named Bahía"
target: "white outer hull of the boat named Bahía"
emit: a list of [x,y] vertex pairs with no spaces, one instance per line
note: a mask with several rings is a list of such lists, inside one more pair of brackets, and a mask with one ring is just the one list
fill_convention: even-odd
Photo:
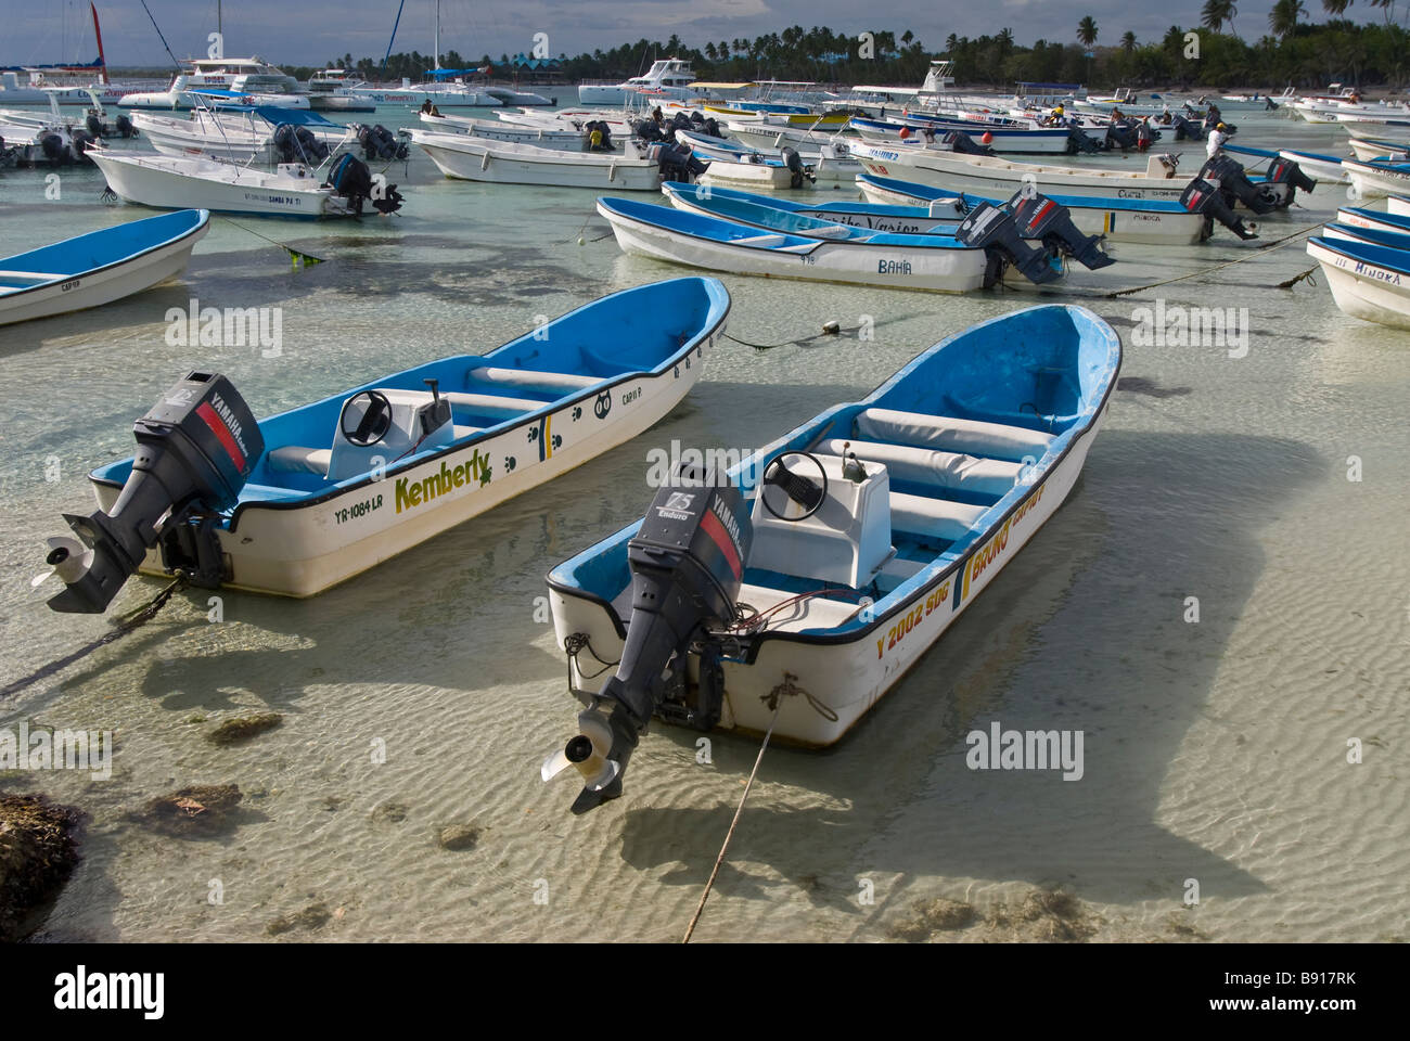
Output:
[[780,252],[680,234],[625,217],[601,205],[598,213],[612,224],[618,245],[625,252],[706,271],[943,293],[973,292],[984,286],[987,258],[983,250],[819,241],[807,252]]

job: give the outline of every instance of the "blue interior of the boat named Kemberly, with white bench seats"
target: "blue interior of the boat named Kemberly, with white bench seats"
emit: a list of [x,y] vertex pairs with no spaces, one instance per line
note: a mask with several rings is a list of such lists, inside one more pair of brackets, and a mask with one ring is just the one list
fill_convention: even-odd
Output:
[[[393,475],[439,453],[544,416],[575,398],[595,396],[623,377],[667,371],[728,310],[729,295],[713,278],[636,286],[578,308],[488,354],[431,361],[262,419],[265,451],[234,509],[247,502],[321,497],[362,482],[379,467]],[[437,381],[434,392],[427,379]],[[368,392],[381,395],[385,405]],[[436,395],[448,402],[450,420],[427,433],[422,415],[434,406]],[[348,437],[348,432],[354,436]],[[364,443],[369,433],[381,436]],[[123,484],[131,467],[133,460],[125,458],[94,470],[93,478]]]

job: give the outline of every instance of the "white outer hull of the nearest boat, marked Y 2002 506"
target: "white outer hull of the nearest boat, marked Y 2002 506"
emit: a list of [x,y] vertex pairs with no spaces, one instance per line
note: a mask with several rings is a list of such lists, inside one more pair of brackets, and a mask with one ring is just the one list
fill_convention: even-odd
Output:
[[[897,612],[897,625],[890,631],[877,629],[847,643],[809,643],[787,636],[768,640],[750,664],[723,662],[725,707],[719,726],[763,733],[768,729],[773,711],[770,693],[784,683],[805,690],[809,698],[788,697],[780,701],[774,735],[790,743],[823,748],[839,741],[921,656],[969,608],[974,598],[1003,571],[1043,523],[1058,511],[1072,492],[1086,463],[1093,439],[1101,429],[1105,410],[1093,422],[1072,450],[1024,498],[1011,518],[990,539],[979,543],[959,561],[953,573],[939,587],[921,588]],[[1028,504],[1026,508],[1024,504]],[[986,559],[981,576],[970,580],[971,564],[981,554]],[[564,595],[550,585],[548,604],[558,646],[571,633],[585,633],[594,653],[606,659],[622,657],[623,640],[608,611],[587,598]],[[904,628],[914,619],[911,628]],[[902,639],[904,638],[904,639]],[[612,670],[599,676],[585,676],[572,670],[572,686],[596,693]],[[698,683],[697,660],[691,657],[691,683]],[[825,718],[811,702],[818,702],[835,718]]]

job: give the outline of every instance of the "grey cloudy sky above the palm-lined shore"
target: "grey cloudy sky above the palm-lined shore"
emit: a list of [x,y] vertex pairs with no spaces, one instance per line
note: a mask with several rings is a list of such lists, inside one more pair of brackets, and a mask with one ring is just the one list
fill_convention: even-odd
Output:
[[[103,44],[111,65],[169,63],[140,0],[96,0]],[[1266,31],[1273,0],[1238,4],[1234,28],[1245,38]],[[178,58],[204,56],[206,34],[216,28],[216,0],[147,0]],[[1091,14],[1098,44],[1114,44],[1127,30],[1142,41],[1173,23],[1194,25],[1201,0],[441,0],[441,51],[462,55],[529,51],[534,32],[547,32],[551,52],[580,54],[646,37],[687,44],[756,37],[787,25],[828,25],[856,34],[866,28],[909,28],[932,51],[950,32],[977,37],[1010,27],[1022,44],[1043,37],[1070,41],[1077,20]],[[1308,0],[1314,20],[1321,4]],[[316,65],[333,55],[381,55],[392,31],[398,0],[228,0],[223,7],[226,54],[286,65]],[[436,0],[406,0],[396,51],[430,54]],[[862,14],[871,11],[871,14]],[[983,17],[976,18],[976,13]],[[1352,8],[1358,20],[1369,8]],[[90,61],[96,54],[87,0],[0,0],[0,65]]]

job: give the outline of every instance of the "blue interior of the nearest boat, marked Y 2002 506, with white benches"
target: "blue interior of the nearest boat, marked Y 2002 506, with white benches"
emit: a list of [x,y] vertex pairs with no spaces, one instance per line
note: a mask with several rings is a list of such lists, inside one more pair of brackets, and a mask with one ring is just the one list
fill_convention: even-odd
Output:
[[[866,628],[869,621],[857,614],[863,598],[876,605],[876,615],[908,601],[1003,523],[1097,418],[1120,365],[1117,334],[1091,312],[1029,308],[931,347],[866,399],[838,405],[729,467],[754,522],[740,599],[767,611],[808,598],[809,609],[776,615],[774,629],[847,633]],[[878,488],[888,518],[888,554],[880,567],[862,568],[854,583],[836,578],[839,559],[847,560],[845,536],[856,530],[847,509],[835,511],[833,520],[822,525],[835,525],[830,533],[798,528],[781,536],[826,536],[816,552],[792,543],[778,552],[777,540],[760,537],[760,523],[776,522],[760,508],[759,481],[776,457],[794,451],[811,453],[830,474],[825,506],[856,487],[838,480],[845,453],[856,456],[869,482],[885,477]],[[790,470],[816,474],[816,465],[798,458],[790,456]],[[704,461],[709,467],[708,456]],[[550,583],[612,604],[625,623],[632,580],[627,542],[639,528],[640,522],[632,523],[564,561]]]

